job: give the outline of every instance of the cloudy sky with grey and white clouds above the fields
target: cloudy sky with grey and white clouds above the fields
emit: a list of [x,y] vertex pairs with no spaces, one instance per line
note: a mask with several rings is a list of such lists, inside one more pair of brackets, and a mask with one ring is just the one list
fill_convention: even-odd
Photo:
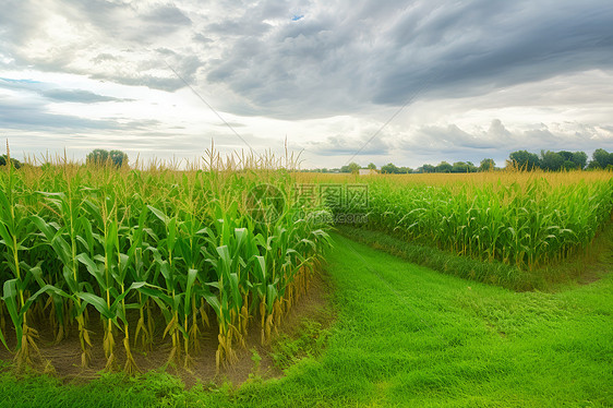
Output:
[[611,0],[0,3],[17,157],[286,139],[305,168],[613,151]]

